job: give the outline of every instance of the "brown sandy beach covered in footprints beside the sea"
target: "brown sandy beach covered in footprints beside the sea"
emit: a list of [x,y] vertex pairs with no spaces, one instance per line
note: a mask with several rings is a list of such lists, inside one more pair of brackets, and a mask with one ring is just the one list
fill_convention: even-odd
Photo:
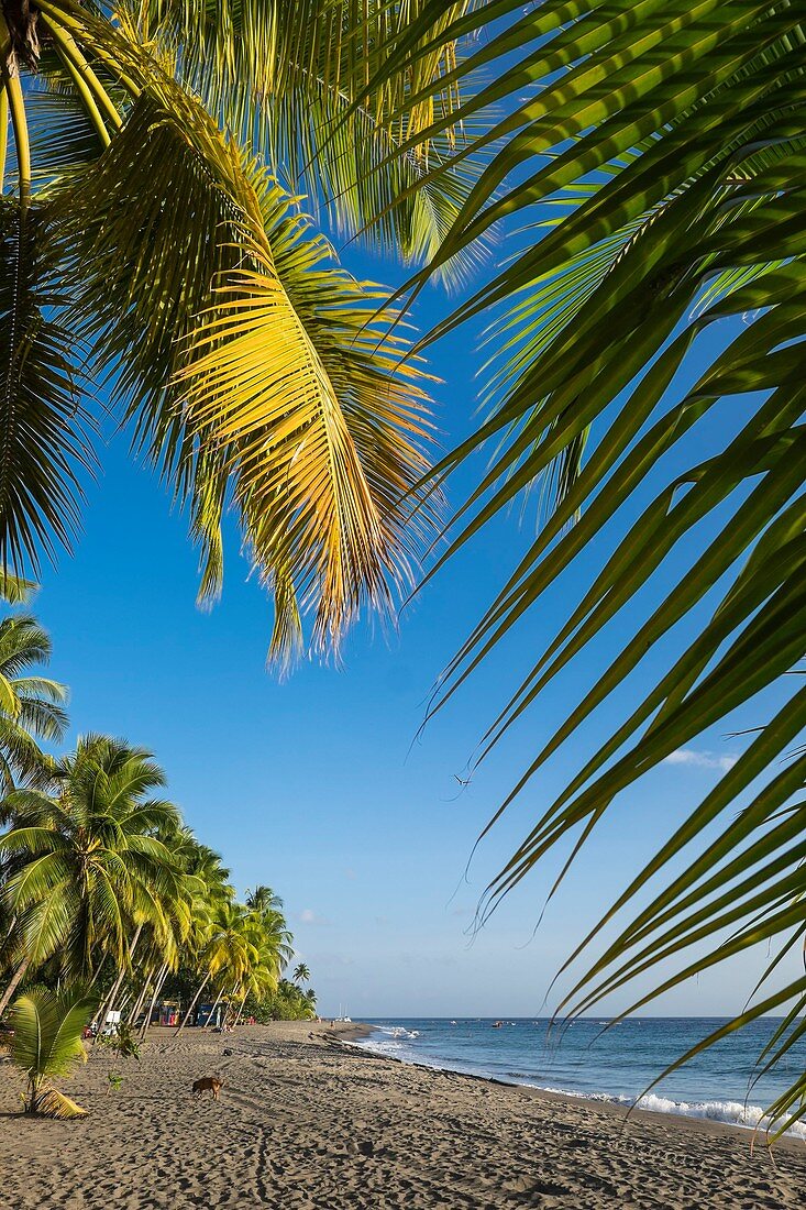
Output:
[[[63,1088],[90,1117],[31,1120],[0,1062],[0,1205],[775,1210],[802,1205],[806,1147],[747,1131],[404,1066],[336,1041],[361,1027],[152,1030]],[[312,1035],[312,1037],[311,1037]],[[234,1053],[224,1055],[224,1049]],[[106,1073],[123,1085],[106,1094]],[[220,1073],[220,1101],[190,1094]]]

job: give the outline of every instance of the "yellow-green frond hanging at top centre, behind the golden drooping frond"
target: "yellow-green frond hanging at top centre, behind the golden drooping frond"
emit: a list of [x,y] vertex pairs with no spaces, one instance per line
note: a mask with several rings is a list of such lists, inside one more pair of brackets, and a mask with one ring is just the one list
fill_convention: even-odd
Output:
[[[467,126],[450,121],[460,100],[449,80],[455,45],[425,50],[467,7],[454,4],[431,22],[421,0],[404,6],[272,0],[246,7],[178,0],[122,5],[117,16],[132,41],[174,57],[178,74],[211,113],[260,150],[283,184],[306,194],[317,219],[321,212],[349,237],[370,227],[374,247],[380,242],[422,263],[438,249],[484,162],[472,150],[472,136],[482,123],[487,128],[487,119]],[[392,71],[382,88],[362,97],[401,31],[420,17],[425,53],[414,69]],[[419,139],[434,117],[447,119],[444,131]],[[409,140],[410,150],[398,154]],[[457,143],[466,157],[454,168]],[[430,162],[445,171],[424,183]],[[460,280],[482,254],[478,244],[454,258],[451,278]]]

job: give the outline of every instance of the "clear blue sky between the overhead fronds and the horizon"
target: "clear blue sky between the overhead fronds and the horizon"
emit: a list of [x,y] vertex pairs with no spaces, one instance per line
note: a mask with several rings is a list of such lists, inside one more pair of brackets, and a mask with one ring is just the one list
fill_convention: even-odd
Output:
[[[381,272],[355,252],[345,259],[359,275]],[[419,324],[427,327],[445,305],[444,295],[430,292],[419,304]],[[432,353],[433,369],[447,380],[437,392],[445,445],[473,422],[482,364],[473,345],[474,333],[465,330]],[[703,357],[695,357],[689,374]],[[747,407],[732,402],[720,424],[737,422]],[[473,842],[501,797],[614,651],[617,630],[558,681],[470,786],[459,785],[484,726],[519,669],[553,635],[585,569],[552,590],[415,738],[431,686],[528,541],[529,523],[522,528],[509,515],[490,526],[404,611],[397,632],[358,627],[344,669],[306,662],[278,684],[265,670],[270,604],[248,578],[237,536],[230,534],[224,598],[201,612],[184,519],[171,512],[151,472],[129,459],[126,436],[108,434],[100,456],[103,476],[87,486],[85,532],[73,558],[44,570],[36,601],[53,638],[52,673],[71,688],[70,741],[96,730],[157,755],[171,795],[198,836],[224,854],[238,891],[267,882],[283,897],[324,1013],[339,1006],[353,1018],[543,1010],[572,943],[714,783],[736,744],[720,733],[706,737],[626,795],[535,935],[557,863],[471,938],[487,881],[609,721],[605,711],[583,728],[574,750],[560,754],[484,842],[466,875]],[[454,502],[477,469],[454,483]],[[633,684],[617,704],[635,692]],[[707,1015],[739,1008],[756,958],[703,976],[656,1010]]]

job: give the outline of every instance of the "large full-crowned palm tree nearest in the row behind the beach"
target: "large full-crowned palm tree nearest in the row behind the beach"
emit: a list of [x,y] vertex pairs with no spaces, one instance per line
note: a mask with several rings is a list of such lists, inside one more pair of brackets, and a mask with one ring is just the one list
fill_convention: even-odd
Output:
[[29,968],[59,953],[59,969],[94,981],[104,960],[131,961],[132,932],[165,927],[166,904],[185,893],[183,871],[155,832],[177,808],[149,797],[165,776],[143,749],[87,736],[56,768],[57,797],[19,790],[0,854],[15,860],[4,887],[19,933],[19,962],[0,1013]]

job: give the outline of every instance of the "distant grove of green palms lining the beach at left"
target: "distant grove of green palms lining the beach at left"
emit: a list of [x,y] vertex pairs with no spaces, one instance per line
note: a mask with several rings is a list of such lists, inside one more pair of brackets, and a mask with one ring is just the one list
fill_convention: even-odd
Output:
[[230,1020],[311,1016],[312,990],[283,979],[281,900],[267,887],[236,900],[150,753],[99,734],[40,750],[67,725],[65,690],[38,667],[48,656],[33,617],[0,622],[0,1015],[33,985],[74,987],[100,1022],[114,1008],[143,1033],[162,999],[182,1024],[202,996]]

